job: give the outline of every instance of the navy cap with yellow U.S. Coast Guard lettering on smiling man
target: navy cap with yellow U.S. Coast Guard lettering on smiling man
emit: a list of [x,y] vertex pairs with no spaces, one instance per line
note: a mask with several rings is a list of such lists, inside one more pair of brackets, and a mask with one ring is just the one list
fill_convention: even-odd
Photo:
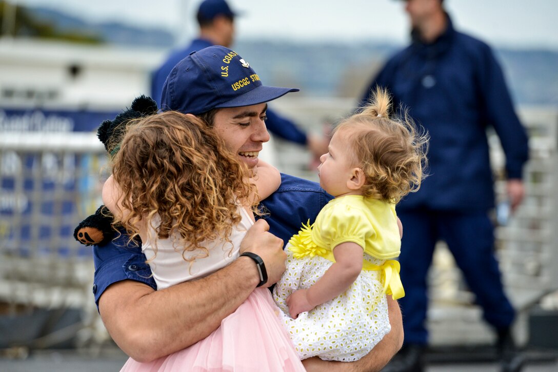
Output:
[[235,51],[215,45],[190,53],[174,66],[163,85],[161,109],[199,115],[213,108],[269,102],[298,91],[266,87]]

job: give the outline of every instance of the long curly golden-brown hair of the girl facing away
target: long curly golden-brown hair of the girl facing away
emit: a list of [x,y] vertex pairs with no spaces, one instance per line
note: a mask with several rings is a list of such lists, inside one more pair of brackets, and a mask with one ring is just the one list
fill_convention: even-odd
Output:
[[119,203],[129,212],[117,223],[130,241],[141,222],[160,239],[177,233],[183,257],[195,249],[208,255],[205,240],[229,241],[240,222],[238,201],[256,192],[246,165],[223,140],[204,121],[176,111],[129,122],[112,163],[123,193]]

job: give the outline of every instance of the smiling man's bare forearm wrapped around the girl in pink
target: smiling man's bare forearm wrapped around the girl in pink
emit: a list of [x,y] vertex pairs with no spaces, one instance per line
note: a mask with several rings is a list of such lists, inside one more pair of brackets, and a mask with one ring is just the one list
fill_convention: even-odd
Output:
[[99,299],[110,336],[138,361],[151,361],[207,337],[259,282],[249,257],[199,280],[155,291],[132,280],[111,285]]

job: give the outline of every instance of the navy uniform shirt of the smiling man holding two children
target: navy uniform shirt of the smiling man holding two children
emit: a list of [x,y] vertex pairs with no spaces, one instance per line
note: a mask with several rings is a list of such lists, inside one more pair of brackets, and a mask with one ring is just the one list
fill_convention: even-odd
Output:
[[[269,213],[263,218],[270,225],[270,232],[285,244],[292,235],[310,220],[314,223],[321,208],[332,199],[320,185],[309,180],[281,174],[281,185],[275,193],[262,201]],[[136,280],[157,289],[146,264],[141,246],[127,246],[128,236],[121,235],[109,244],[93,247],[95,276],[93,294],[99,306],[99,297],[110,284],[121,280]]]

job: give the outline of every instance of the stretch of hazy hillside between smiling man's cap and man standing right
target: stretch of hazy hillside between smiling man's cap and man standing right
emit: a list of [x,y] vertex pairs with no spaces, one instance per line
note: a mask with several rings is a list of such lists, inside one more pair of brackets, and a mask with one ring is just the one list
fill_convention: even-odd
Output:
[[305,96],[357,97],[397,46],[239,40],[233,48],[266,84],[299,87]]

